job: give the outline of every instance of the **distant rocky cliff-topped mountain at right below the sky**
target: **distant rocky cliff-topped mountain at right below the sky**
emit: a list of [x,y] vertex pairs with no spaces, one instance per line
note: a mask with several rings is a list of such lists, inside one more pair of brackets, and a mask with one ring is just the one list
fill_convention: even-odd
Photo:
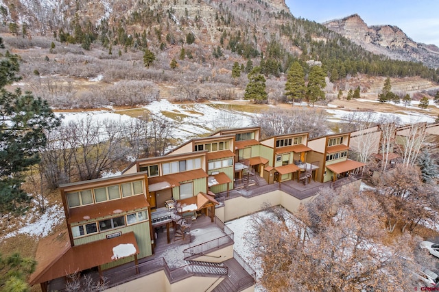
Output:
[[368,26],[358,14],[328,21],[323,25],[373,53],[388,55],[392,59],[423,62],[433,68],[439,67],[439,48],[432,44],[414,42],[399,27]]

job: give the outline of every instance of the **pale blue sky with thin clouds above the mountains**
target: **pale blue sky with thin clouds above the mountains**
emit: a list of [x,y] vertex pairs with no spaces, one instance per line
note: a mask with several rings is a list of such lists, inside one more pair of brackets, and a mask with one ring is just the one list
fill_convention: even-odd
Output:
[[368,25],[396,25],[415,42],[439,47],[438,0],[285,0],[295,17],[323,23],[358,14]]

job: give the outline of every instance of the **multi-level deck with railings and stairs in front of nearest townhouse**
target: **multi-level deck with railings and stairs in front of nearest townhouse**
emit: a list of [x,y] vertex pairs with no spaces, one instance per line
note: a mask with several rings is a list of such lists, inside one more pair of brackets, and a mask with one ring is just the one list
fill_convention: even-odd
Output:
[[[173,228],[170,231],[173,233]],[[165,271],[171,284],[191,276],[224,278],[227,284],[222,284],[221,287],[245,289],[254,284],[254,271],[237,254],[222,263],[196,261],[198,256],[233,244],[233,232],[221,220],[215,217],[212,223],[210,217],[202,215],[193,222],[187,232],[185,240],[171,240],[167,243],[166,230],[156,229],[156,248],[152,256],[139,259],[138,265],[130,262],[102,271],[108,287],[115,287],[161,270]],[[88,275],[95,282],[99,281],[97,268],[82,271],[82,275]],[[52,280],[48,291],[65,291],[64,278]]]

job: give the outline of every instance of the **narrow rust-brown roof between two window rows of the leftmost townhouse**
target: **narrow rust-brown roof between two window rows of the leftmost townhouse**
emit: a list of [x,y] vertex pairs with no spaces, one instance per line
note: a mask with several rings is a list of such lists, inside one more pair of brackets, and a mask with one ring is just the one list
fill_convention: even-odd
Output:
[[81,222],[150,206],[143,194],[69,209],[68,223]]

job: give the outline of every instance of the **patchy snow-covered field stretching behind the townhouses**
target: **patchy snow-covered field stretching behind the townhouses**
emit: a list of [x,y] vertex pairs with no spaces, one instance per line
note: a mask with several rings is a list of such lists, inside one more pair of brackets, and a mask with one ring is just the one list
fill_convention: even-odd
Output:
[[[375,103],[375,101],[368,101],[366,99],[364,101]],[[240,102],[242,105],[249,104],[249,101]],[[435,117],[428,115],[428,111],[425,111],[425,114],[419,114],[418,112],[410,111],[410,109],[417,108],[416,106],[412,105],[404,108],[402,104],[400,105],[401,108],[404,109],[401,113],[374,111],[372,113],[374,116],[373,120],[379,120],[379,118],[383,116],[397,116],[401,119],[401,122],[405,124],[415,122],[434,122],[435,120]],[[307,105],[302,103],[298,106],[306,107]],[[344,109],[337,109],[331,104],[329,104],[328,107],[325,107],[324,109],[329,114],[329,122],[343,122],[346,119],[345,117],[350,113],[350,111]],[[150,111],[154,116],[174,122],[175,127],[173,136],[180,140],[180,142],[186,142],[194,137],[213,133],[221,128],[251,127],[251,118],[255,115],[245,111],[234,111],[232,107],[228,108],[227,104],[221,101],[211,103],[175,104],[162,99],[160,101],[153,101],[144,108],[147,109],[147,111]],[[370,114],[369,111],[356,111],[356,113],[359,116]],[[59,115],[60,114],[58,114],[58,116]],[[96,120],[109,119],[121,122],[133,119],[128,115],[115,114],[111,107],[109,107],[108,110],[63,113],[62,115],[64,116],[63,122],[65,123],[71,120],[85,118],[93,118]]]

